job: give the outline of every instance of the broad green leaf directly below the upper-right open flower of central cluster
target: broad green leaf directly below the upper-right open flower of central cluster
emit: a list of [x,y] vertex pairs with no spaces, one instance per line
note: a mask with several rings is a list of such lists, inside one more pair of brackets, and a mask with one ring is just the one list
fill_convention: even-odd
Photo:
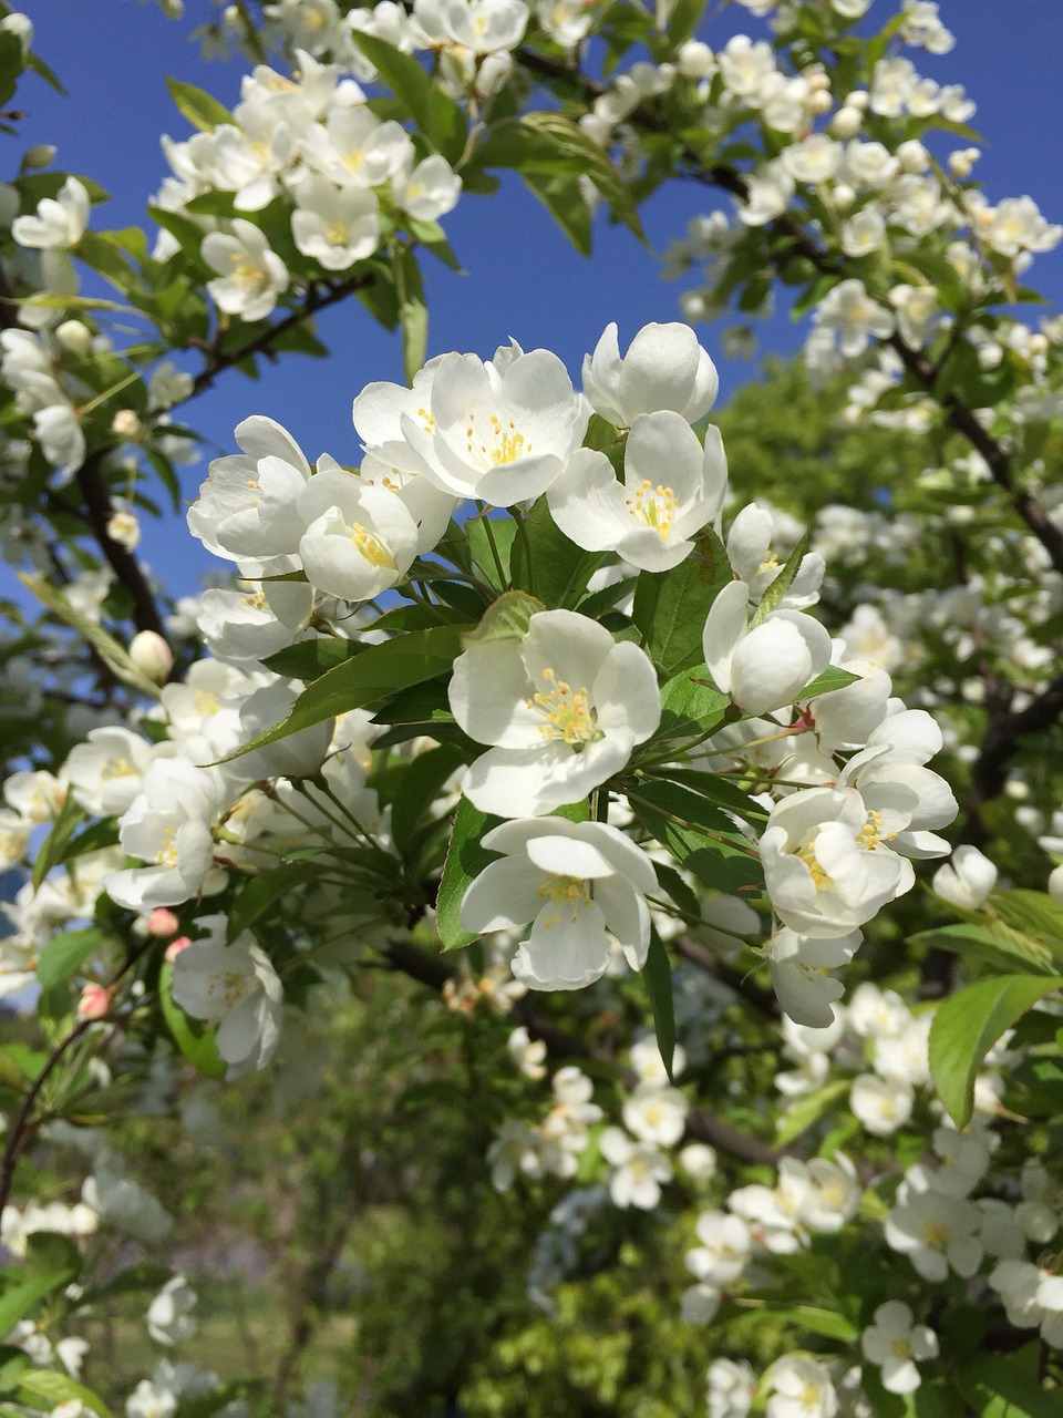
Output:
[[709,608],[731,579],[727,552],[707,527],[697,535],[690,556],[668,576],[639,576],[632,618],[643,648],[669,678],[702,661]]

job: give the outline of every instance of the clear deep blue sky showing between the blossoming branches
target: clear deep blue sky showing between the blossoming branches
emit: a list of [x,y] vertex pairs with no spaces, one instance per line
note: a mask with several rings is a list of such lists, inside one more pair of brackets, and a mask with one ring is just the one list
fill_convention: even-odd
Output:
[[[238,96],[242,62],[206,64],[187,38],[215,13],[213,6],[186,0],[181,21],[167,21],[154,4],[137,0],[24,0],[21,9],[34,21],[34,47],[68,89],[64,98],[34,77],[26,82],[18,95],[27,112],[21,139],[57,145],[57,166],[86,173],[111,191],[112,201],[96,210],[94,225],[143,223],[145,203],[167,170],[159,136],[189,132],[164,77],[198,84],[227,105]],[[876,0],[870,20],[892,10],[892,0]],[[986,146],[977,176],[989,200],[1029,193],[1049,220],[1063,220],[1059,0],[941,0],[941,17],[957,35],[955,50],[940,58],[914,57],[940,82],[962,82],[978,104],[972,125]],[[703,37],[719,47],[740,30],[758,34],[761,21],[730,4]],[[13,140],[7,145],[11,153]],[[517,180],[495,197],[462,200],[444,224],[468,275],[425,257],[429,353],[461,349],[488,356],[513,336],[526,349],[556,350],[578,377],[584,352],[609,320],[619,323],[624,343],[648,320],[679,318],[679,288],[660,279],[655,252],[706,210],[704,191],[676,186],[643,210],[652,251],[602,220],[594,258],[585,261]],[[1063,306],[1063,248],[1037,259],[1030,284]],[[232,427],[264,413],[285,424],[310,458],[327,450],[343,462],[357,462],[351,400],[370,380],[403,379],[398,342],[354,303],[329,312],[320,330],[333,350],[327,364],[289,357],[258,383],[230,373],[189,406],[190,423],[230,451]],[[802,337],[785,312],[761,322],[758,333],[763,349],[780,352],[797,349]],[[717,332],[702,326],[699,335],[717,357]],[[723,398],[754,373],[748,364],[717,362]],[[189,496],[204,471],[187,471]],[[173,525],[146,527],[143,549],[181,590],[193,588],[196,573],[218,569]]]

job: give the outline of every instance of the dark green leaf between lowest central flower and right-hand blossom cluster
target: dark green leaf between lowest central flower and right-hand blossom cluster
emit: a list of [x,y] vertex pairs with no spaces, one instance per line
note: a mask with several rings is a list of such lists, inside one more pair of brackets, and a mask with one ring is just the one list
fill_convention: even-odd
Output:
[[757,848],[720,808],[675,783],[628,787],[635,815],[699,881],[721,892],[764,885]]

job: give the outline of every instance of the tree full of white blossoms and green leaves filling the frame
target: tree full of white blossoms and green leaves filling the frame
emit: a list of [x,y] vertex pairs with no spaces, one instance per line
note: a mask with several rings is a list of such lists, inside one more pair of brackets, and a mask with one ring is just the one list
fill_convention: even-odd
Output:
[[[1,189],[4,1412],[1059,1411],[1063,230],[971,179],[935,4],[741,3],[234,4],[145,228]],[[587,254],[700,184],[706,329],[425,363],[505,169]],[[196,396],[350,296],[407,384],[359,468],[248,407],[174,603]],[[283,1343],[197,1351],[241,1227]]]

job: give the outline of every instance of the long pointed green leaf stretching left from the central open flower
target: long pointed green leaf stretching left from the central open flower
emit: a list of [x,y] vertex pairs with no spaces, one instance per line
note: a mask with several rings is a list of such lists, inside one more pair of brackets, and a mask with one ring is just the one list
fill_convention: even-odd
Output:
[[315,679],[295,700],[282,723],[259,733],[223,761],[228,763],[252,749],[276,743],[325,719],[334,719],[349,709],[363,709],[395,689],[431,679],[449,669],[459,652],[461,634],[454,625],[418,630],[398,640],[384,641],[383,645],[370,645],[354,659],[347,659]]

